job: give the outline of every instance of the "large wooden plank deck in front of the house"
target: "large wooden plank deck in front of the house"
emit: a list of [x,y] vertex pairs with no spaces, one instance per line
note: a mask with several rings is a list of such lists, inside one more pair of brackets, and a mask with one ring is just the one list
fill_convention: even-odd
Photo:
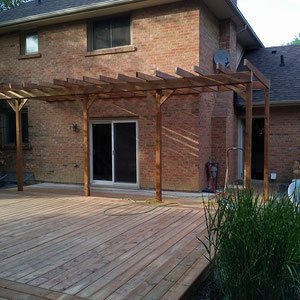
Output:
[[173,300],[208,265],[201,207],[0,190],[0,217],[0,299]]

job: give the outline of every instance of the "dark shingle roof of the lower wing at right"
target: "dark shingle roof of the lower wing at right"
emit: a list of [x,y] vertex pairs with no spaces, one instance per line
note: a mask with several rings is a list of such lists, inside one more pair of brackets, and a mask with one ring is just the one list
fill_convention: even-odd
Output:
[[[271,101],[300,101],[300,46],[246,51],[243,58],[248,59],[271,80]],[[239,70],[244,70],[242,63]],[[254,92],[253,100],[262,101],[263,94]]]

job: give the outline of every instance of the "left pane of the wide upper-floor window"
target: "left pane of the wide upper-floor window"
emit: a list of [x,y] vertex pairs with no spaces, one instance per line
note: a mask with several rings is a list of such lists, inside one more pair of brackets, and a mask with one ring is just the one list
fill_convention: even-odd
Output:
[[111,47],[110,22],[98,21],[94,23],[93,49],[103,49]]

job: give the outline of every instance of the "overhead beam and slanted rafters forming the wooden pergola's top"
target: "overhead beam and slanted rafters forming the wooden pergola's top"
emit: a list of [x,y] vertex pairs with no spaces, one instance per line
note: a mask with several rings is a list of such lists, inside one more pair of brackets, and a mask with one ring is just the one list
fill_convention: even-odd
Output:
[[[139,77],[143,75],[137,74]],[[195,76],[192,78],[179,78],[161,71],[157,71],[157,75],[166,79],[157,78],[157,80],[149,80],[148,78],[137,78],[132,77],[131,82],[121,81],[119,79],[99,76],[99,79],[84,77],[82,81],[71,79],[61,80],[54,79],[53,83],[41,83],[39,90],[36,86],[35,89],[24,89],[22,86],[20,90],[0,90],[0,99],[22,99],[22,98],[43,98],[43,97],[58,97],[58,96],[84,96],[88,94],[107,94],[111,95],[114,93],[134,93],[134,92],[155,92],[156,90],[197,90],[197,92],[209,92],[214,87],[225,88],[228,85],[246,84],[250,81],[249,74],[247,73],[234,73],[230,78],[224,74],[214,74],[210,76]],[[124,75],[126,76],[126,75]],[[123,77],[125,79],[125,77]],[[129,76],[126,79],[129,81]],[[134,78],[134,79],[133,79]],[[146,79],[146,80],[145,80]],[[153,77],[151,76],[151,79]],[[134,82],[133,82],[134,80]],[[106,82],[104,82],[106,81]],[[89,83],[85,85],[85,83]],[[110,82],[110,83],[109,83]],[[112,83],[113,82],[113,83]],[[43,91],[42,89],[49,89]],[[52,90],[50,90],[52,89]],[[190,92],[187,92],[190,93]]]

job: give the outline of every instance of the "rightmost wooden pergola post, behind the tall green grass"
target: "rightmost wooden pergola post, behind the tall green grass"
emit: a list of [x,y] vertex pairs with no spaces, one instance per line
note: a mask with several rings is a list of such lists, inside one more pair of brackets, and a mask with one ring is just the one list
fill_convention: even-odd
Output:
[[269,198],[270,88],[264,90],[264,201]]

